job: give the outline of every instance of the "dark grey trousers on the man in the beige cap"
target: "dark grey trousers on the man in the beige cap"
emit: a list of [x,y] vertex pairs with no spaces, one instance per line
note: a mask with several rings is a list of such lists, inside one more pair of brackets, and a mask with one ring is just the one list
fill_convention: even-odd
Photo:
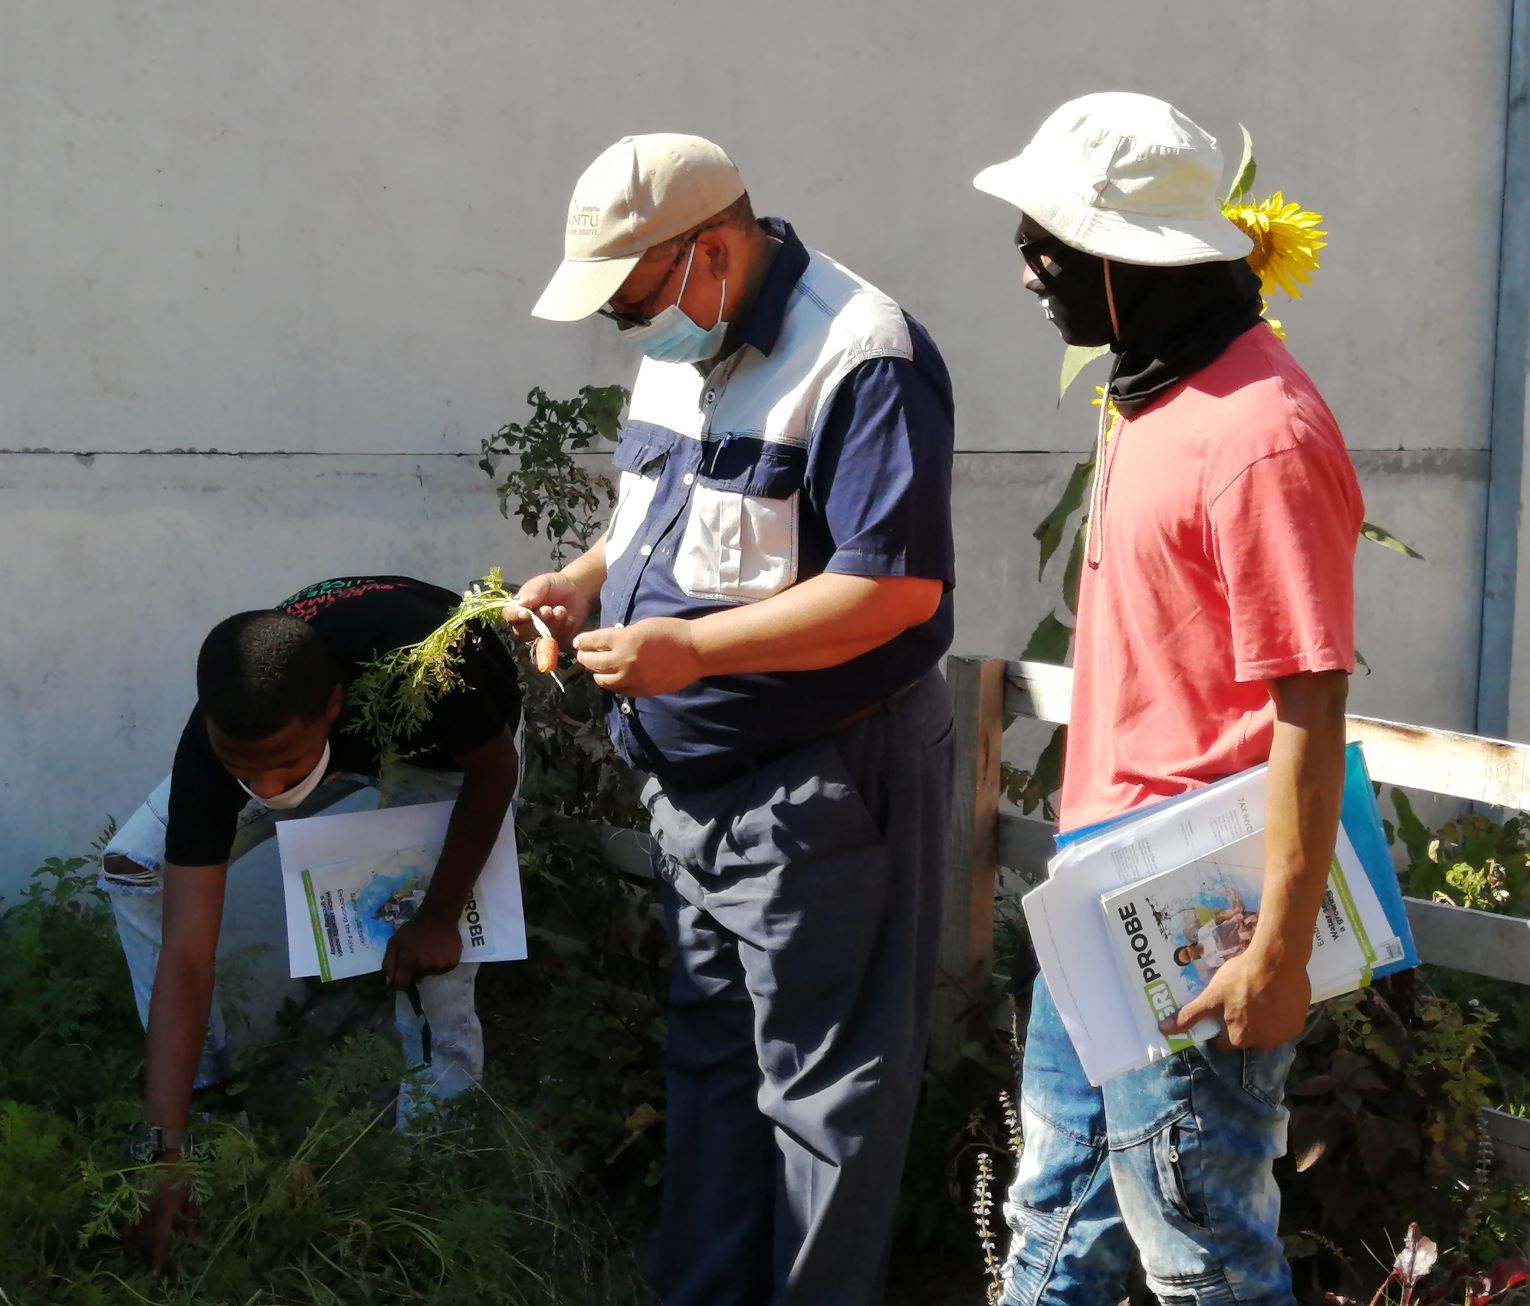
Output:
[[666,1306],[871,1306],[918,1100],[950,809],[930,673],[713,789],[650,780],[675,945]]

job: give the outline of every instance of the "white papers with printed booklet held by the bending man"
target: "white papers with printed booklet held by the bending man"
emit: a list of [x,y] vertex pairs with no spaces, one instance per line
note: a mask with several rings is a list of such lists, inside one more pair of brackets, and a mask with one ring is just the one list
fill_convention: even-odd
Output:
[[[341,812],[277,824],[291,973],[326,980],[382,968],[393,931],[425,898],[453,803]],[[457,922],[464,962],[526,956],[513,814]]]

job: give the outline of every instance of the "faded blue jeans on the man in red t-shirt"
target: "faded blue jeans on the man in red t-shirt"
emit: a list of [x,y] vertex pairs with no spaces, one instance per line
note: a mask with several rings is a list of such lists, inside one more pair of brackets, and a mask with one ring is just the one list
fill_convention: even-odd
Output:
[[1004,1306],[1120,1301],[1134,1245],[1163,1306],[1294,1306],[1271,1173],[1294,1049],[1193,1048],[1092,1089],[1037,979]]

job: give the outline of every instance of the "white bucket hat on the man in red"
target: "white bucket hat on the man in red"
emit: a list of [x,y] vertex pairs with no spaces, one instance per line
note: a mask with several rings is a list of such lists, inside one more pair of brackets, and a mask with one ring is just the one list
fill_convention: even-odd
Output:
[[1074,249],[1181,268],[1253,249],[1222,216],[1221,179],[1216,139],[1178,109],[1105,90],[1069,99],[1019,154],[984,168],[973,185]]

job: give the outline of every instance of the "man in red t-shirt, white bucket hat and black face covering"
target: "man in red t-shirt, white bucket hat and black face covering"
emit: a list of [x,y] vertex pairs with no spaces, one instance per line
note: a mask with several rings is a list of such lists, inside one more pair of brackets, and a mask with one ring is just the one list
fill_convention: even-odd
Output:
[[[1117,1301],[1132,1245],[1169,1301],[1288,1306],[1271,1164],[1339,826],[1360,491],[1262,318],[1222,158],[1144,95],[1088,95],[976,179],[1021,210],[1024,284],[1109,346],[1079,584],[1062,827],[1270,763],[1247,948],[1166,1023],[1226,1035],[1089,1087],[1037,980],[1004,1301]],[[1103,963],[1103,962],[1102,962]]]

